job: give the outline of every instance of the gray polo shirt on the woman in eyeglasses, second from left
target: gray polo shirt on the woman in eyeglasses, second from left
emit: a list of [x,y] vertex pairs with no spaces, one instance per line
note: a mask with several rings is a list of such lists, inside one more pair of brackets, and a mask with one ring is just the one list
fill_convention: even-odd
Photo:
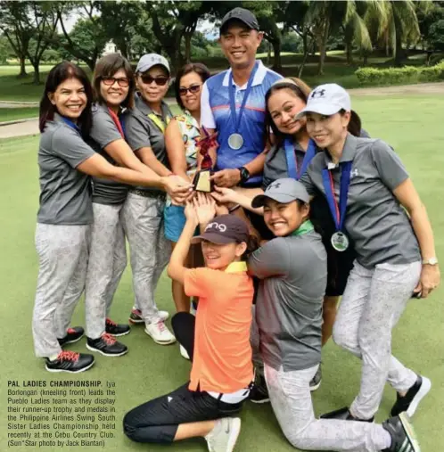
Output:
[[[104,148],[113,141],[122,139],[122,136],[105,105],[95,104],[93,106],[93,127],[91,127],[89,136],[95,151],[99,152],[111,165],[116,165]],[[127,199],[127,192],[128,185],[93,177],[93,202],[121,204]]]

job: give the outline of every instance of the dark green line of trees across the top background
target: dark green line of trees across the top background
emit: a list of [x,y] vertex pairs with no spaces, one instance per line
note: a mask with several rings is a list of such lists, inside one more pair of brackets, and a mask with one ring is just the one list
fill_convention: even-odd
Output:
[[[217,42],[197,31],[198,23],[205,21],[217,31],[226,12],[240,4],[256,14],[265,37],[261,50],[273,54],[275,70],[282,69],[283,51],[302,53],[300,75],[308,56],[315,53],[322,74],[331,48],[344,49],[349,64],[358,52],[363,65],[377,49],[392,55],[397,66],[417,45],[429,57],[444,51],[444,2],[3,1],[0,62],[16,57],[24,76],[28,60],[34,82],[39,83],[42,62],[74,59],[93,69],[112,40],[131,61],[143,53],[163,53],[176,70],[199,56],[217,53]],[[67,21],[72,17],[78,19],[69,30]]]

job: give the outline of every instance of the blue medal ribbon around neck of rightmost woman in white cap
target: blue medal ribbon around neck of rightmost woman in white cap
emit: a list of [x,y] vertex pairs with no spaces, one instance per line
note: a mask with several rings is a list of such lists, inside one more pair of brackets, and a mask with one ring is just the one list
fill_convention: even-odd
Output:
[[333,216],[336,231],[342,231],[344,226],[345,212],[347,210],[347,198],[349,196],[351,164],[351,161],[344,161],[340,163],[341,184],[339,192],[339,206],[334,196],[332,172],[327,168],[324,168],[322,170],[322,183],[325,189],[325,197],[327,199],[330,212]]

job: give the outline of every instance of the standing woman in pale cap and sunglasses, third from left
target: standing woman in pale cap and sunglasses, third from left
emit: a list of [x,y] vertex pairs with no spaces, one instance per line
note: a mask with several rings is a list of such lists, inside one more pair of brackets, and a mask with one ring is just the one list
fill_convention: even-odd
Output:
[[[164,132],[172,118],[163,98],[169,89],[169,62],[149,53],[137,63],[135,108],[123,118],[127,143],[136,156],[159,176],[174,176],[169,169]],[[163,228],[166,193],[136,187],[129,190],[123,210],[131,253],[136,302],[129,320],[145,325],[145,333],[166,345],[176,341],[164,324],[169,314],[160,311],[154,292],[169,261],[170,246]]]

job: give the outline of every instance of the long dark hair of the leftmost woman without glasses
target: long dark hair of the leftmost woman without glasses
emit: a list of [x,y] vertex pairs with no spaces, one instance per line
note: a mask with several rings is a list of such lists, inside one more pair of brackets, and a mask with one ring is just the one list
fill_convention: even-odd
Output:
[[40,101],[38,126],[40,132],[43,132],[46,121],[53,120],[54,112],[57,112],[57,107],[49,100],[49,94],[55,93],[57,87],[69,78],[77,78],[85,88],[86,107],[78,118],[78,127],[80,127],[82,136],[86,137],[89,135],[92,124],[91,105],[93,103],[93,88],[85,70],[79,68],[77,64],[72,62],[60,62],[49,71],[45,81],[45,90]]

